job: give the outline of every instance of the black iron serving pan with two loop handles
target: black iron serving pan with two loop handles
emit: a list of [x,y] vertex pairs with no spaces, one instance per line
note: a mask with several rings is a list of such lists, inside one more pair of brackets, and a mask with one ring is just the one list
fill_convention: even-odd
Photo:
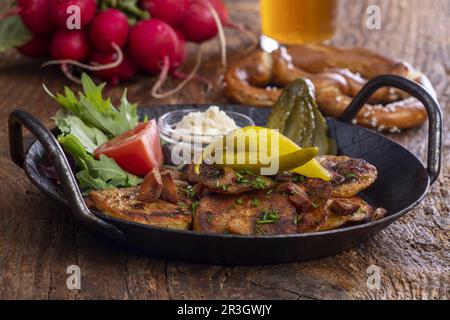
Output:
[[[365,101],[378,88],[391,86],[418,98],[429,116],[428,163],[425,167],[411,152],[377,132],[350,124]],[[141,108],[150,118],[185,106],[150,106]],[[238,105],[220,105],[251,116],[259,125],[265,123],[270,110]],[[90,211],[83,200],[68,161],[53,133],[31,115],[16,110],[10,115],[10,151],[42,192],[71,208],[74,218],[110,239],[140,248],[150,254],[192,262],[246,265],[304,261],[334,255],[368,240],[381,229],[417,206],[440,171],[442,113],[436,99],[423,87],[409,80],[385,75],[372,79],[354,98],[340,120],[328,118],[329,134],[338,151],[362,158],[378,169],[377,181],[364,191],[370,203],[387,209],[379,221],[341,229],[292,235],[237,236],[177,231],[137,224]],[[24,153],[22,125],[37,138]],[[40,170],[44,156],[52,161],[60,184],[48,179]]]

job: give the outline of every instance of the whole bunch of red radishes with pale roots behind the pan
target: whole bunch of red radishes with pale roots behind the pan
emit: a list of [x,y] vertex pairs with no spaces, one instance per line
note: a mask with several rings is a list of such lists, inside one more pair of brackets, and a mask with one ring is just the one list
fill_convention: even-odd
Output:
[[[220,0],[18,0],[16,8],[4,16],[11,14],[18,14],[32,33],[18,47],[24,55],[50,57],[45,65],[60,65],[74,81],[74,68],[89,70],[113,84],[142,69],[159,76],[152,90],[158,98],[199,78],[201,48],[194,70],[180,71],[186,41],[202,43],[219,35],[225,66],[223,28],[246,32],[231,23]],[[80,28],[73,27],[75,22]],[[160,93],[169,75],[183,81],[174,90]]]

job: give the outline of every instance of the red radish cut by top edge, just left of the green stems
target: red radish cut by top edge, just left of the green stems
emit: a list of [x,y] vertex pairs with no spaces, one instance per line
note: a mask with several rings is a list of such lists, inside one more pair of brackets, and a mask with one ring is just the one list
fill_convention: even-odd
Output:
[[61,29],[67,29],[67,19],[72,15],[67,9],[70,6],[80,8],[81,28],[88,25],[97,10],[96,0],[45,0],[50,3],[50,17]]

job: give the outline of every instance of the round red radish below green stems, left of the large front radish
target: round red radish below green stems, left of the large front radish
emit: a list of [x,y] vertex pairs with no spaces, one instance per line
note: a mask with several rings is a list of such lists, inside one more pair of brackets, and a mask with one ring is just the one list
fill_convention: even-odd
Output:
[[108,9],[92,20],[89,38],[95,48],[108,52],[113,49],[113,43],[121,48],[125,45],[129,29],[127,16],[122,11]]

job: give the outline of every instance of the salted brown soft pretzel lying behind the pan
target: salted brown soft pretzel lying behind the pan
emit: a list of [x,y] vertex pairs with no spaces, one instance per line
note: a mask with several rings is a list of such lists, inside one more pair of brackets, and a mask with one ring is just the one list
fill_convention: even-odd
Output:
[[[414,80],[436,95],[428,78],[406,62],[394,61],[366,49],[323,45],[281,48],[272,53],[255,51],[227,70],[225,95],[242,104],[272,106],[282,87],[305,77],[316,87],[320,110],[338,117],[366,79],[381,74]],[[382,88],[361,109],[355,123],[395,132],[417,127],[426,118],[426,110],[417,99],[394,88]]]

